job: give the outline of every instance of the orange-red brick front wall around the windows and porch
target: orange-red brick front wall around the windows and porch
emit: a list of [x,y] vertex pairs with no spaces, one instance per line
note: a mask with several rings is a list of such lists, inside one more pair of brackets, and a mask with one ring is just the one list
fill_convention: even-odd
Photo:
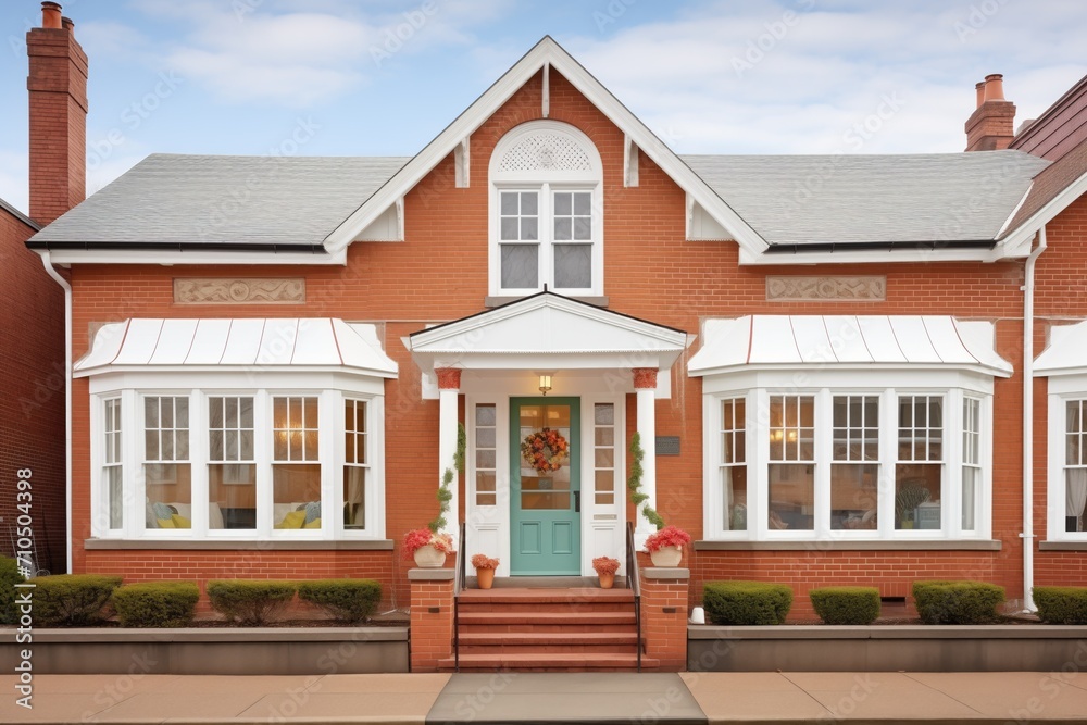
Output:
[[[484,309],[488,260],[488,161],[497,141],[516,125],[541,117],[541,76],[516,91],[471,138],[474,157],[471,184],[457,188],[450,155],[405,197],[405,240],[399,243],[352,245],[345,266],[266,267],[261,275],[304,276],[307,300],[290,315],[336,316],[378,325],[386,352],[400,365],[400,376],[386,383],[386,529],[396,542],[403,533],[433,517],[438,470],[437,401],[423,400],[420,372],[400,342],[428,323],[443,322]],[[604,293],[611,310],[662,325],[698,333],[712,316],[745,314],[944,314],[996,323],[996,349],[1016,375],[995,382],[994,421],[994,538],[999,551],[695,551],[689,553],[690,600],[700,599],[708,579],[736,577],[785,582],[796,592],[795,613],[804,615],[807,590],[832,584],[869,584],[884,596],[908,592],[917,578],[983,578],[1004,586],[1010,598],[1022,591],[1022,379],[1023,292],[1022,261],[997,263],[846,264],[835,275],[884,275],[886,299],[840,302],[767,301],[766,277],[810,275],[810,266],[739,266],[734,242],[687,241],[685,193],[648,157],[639,159],[639,185],[623,185],[624,135],[552,68],[550,114],[587,134],[603,162]],[[1036,351],[1044,347],[1049,317],[1087,316],[1087,304],[1075,290],[1087,278],[1082,239],[1084,202],[1065,212],[1049,229],[1050,251],[1038,263],[1038,314],[1046,320],[1036,330]],[[950,214],[950,212],[949,212]],[[252,267],[157,265],[79,265],[73,270],[74,345],[86,351],[89,333],[105,322],[130,316],[215,317],[283,316],[282,307],[175,305],[174,276],[253,276]],[[697,347],[697,346],[696,346]],[[688,351],[687,355],[695,350]],[[682,455],[657,461],[657,509],[672,524],[698,539],[702,536],[702,386],[685,372],[686,357],[672,371],[672,397],[657,403],[661,436],[677,436]],[[1045,423],[1045,383],[1036,386],[1036,423]],[[128,571],[153,578],[217,576],[229,557],[203,552],[83,551],[89,534],[88,395],[85,379],[75,382],[73,496],[76,571]],[[635,397],[627,396],[628,434],[635,422]],[[1045,433],[1036,430],[1036,500],[1039,535],[1045,532]],[[462,484],[463,486],[463,484]],[[464,500],[463,492],[459,497]],[[633,507],[628,516],[634,515]],[[463,515],[463,512],[462,512]],[[303,576],[318,567],[347,574],[392,578],[398,596],[408,593],[402,570],[389,560],[397,552],[358,559],[347,552],[267,552],[253,570],[277,566],[284,576]],[[385,560],[382,558],[385,557]],[[189,563],[186,563],[188,558]],[[218,563],[216,563],[218,562]],[[1084,580],[1084,554],[1038,555],[1039,582],[1051,577]],[[375,574],[375,572],[377,572]],[[1063,578],[1062,578],[1063,577]],[[437,585],[428,585],[437,586]],[[414,595],[412,595],[414,598]],[[414,623],[413,623],[414,624]],[[445,626],[445,625],[441,625]],[[413,632],[413,640],[414,640]],[[414,646],[414,645],[413,645]]]

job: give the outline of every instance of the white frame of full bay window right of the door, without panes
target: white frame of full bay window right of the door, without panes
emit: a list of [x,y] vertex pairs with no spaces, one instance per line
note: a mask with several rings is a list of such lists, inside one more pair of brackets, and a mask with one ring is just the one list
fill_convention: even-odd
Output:
[[[807,385],[797,386],[798,380]],[[886,385],[891,382],[892,386]],[[815,401],[814,530],[771,529],[767,525],[771,395],[813,395]],[[832,400],[841,395],[879,397],[878,529],[830,528],[830,466],[833,464]],[[944,461],[941,463],[941,528],[895,529],[895,465],[898,463],[898,398],[900,395],[944,399]],[[964,396],[980,401],[982,480],[975,497],[975,530],[962,530],[962,405]],[[746,530],[724,528],[724,496],[720,470],[722,401],[742,398],[747,414],[745,450],[748,465]],[[761,371],[707,376],[703,379],[703,527],[717,541],[892,541],[984,540],[991,537],[992,378],[962,371]],[[1063,501],[1063,499],[1062,499]]]

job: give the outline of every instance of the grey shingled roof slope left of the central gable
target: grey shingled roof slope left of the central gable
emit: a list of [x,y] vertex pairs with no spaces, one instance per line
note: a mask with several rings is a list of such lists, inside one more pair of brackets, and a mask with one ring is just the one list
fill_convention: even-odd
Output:
[[32,249],[278,249],[324,252],[401,157],[157,153],[27,242]]

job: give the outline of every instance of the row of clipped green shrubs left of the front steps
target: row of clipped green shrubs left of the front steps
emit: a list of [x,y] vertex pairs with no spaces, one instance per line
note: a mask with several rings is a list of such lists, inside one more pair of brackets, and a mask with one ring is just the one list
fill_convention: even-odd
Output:
[[[10,563],[10,564],[9,564]],[[121,586],[121,576],[59,574],[39,576],[34,588],[34,623],[79,627],[100,623],[114,611],[124,627],[183,627],[192,621],[200,589],[195,582],[143,582]],[[22,580],[14,560],[0,559],[0,623],[16,618],[14,584]],[[260,626],[276,618],[298,593],[336,620],[365,622],[377,611],[382,585],[373,579],[317,579],[301,583],[220,579],[208,583],[212,608],[228,621]]]

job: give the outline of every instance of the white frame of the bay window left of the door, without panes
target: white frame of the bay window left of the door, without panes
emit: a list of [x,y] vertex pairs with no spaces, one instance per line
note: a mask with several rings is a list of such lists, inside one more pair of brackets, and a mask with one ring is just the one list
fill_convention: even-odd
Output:
[[[268,383],[260,388],[229,385],[233,376],[225,374],[217,380],[193,387],[178,387],[178,375],[134,374],[102,375],[91,378],[90,461],[92,480],[90,490],[91,536],[103,539],[146,540],[371,540],[385,537],[385,405],[384,380],[353,375],[300,376],[298,374],[267,376]],[[303,379],[307,378],[307,379]],[[166,385],[170,379],[174,385]],[[237,374],[234,382],[251,377]],[[262,378],[262,382],[264,379]],[[316,383],[321,387],[307,387],[299,383]],[[145,520],[146,482],[142,474],[145,457],[143,409],[145,397],[172,396],[189,398],[189,461],[191,465],[191,529],[148,528]],[[257,460],[257,528],[209,529],[208,527],[208,398],[221,396],[252,397],[255,423],[254,455]],[[272,398],[310,396],[318,398],[318,448],[321,463],[321,491],[323,509],[333,507],[333,515],[322,515],[320,529],[274,529],[272,515]],[[104,401],[121,399],[122,454],[124,465],[124,527],[110,529],[108,501],[103,489]],[[343,401],[348,398],[366,402],[367,446],[370,468],[367,484],[366,527],[363,530],[345,530],[342,467],[346,455]]]

